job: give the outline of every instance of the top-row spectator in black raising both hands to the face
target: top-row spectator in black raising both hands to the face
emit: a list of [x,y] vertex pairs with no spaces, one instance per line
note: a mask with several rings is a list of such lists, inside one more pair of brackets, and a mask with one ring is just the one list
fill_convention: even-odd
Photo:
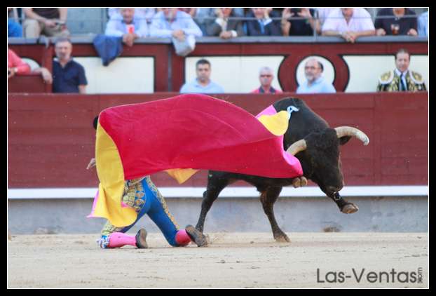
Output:
[[[306,18],[306,20],[289,20],[289,18]],[[321,33],[320,20],[315,18],[312,8],[285,8],[282,11],[283,36],[313,36],[313,30]]]

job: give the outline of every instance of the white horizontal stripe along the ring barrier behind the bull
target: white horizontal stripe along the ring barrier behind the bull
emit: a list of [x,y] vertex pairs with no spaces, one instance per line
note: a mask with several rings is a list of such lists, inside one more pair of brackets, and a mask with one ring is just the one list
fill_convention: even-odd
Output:
[[[159,187],[165,198],[203,198],[205,187]],[[97,188],[8,189],[8,199],[92,199]],[[341,196],[428,196],[428,186],[348,186]],[[259,197],[255,187],[226,187],[220,197]],[[319,187],[285,187],[281,197],[325,197]]]

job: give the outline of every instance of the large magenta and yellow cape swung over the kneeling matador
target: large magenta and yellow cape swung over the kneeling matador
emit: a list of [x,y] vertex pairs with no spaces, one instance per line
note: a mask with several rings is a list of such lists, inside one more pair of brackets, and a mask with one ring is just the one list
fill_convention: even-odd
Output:
[[166,171],[179,183],[200,169],[264,177],[303,174],[283,150],[287,112],[270,106],[257,117],[208,95],[177,95],[104,109],[99,116],[95,159],[100,180],[88,217],[116,227],[137,213],[121,202],[125,180]]

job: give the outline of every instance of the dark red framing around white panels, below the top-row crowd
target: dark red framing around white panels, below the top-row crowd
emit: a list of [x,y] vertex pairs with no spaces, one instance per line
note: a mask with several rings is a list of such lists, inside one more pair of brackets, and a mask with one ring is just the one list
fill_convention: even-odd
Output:
[[[392,55],[405,45],[402,42],[371,43],[196,43],[196,49],[189,57],[204,56],[250,56],[250,55],[284,55],[285,59],[278,70],[278,82],[282,90],[294,91],[297,88],[297,65],[310,55],[326,58],[335,69],[334,88],[343,91],[350,80],[348,65],[343,55]],[[32,58],[50,72],[55,56],[53,44],[48,48],[42,45],[11,44],[15,53],[22,58]],[[411,55],[428,55],[427,42],[407,42]],[[97,57],[92,43],[74,43],[74,57]],[[185,58],[175,54],[171,43],[136,43],[135,46],[123,46],[121,57],[152,57],[154,67],[154,91],[179,90],[184,83]],[[388,69],[386,69],[388,70]],[[30,92],[31,90],[25,90]],[[11,91],[12,92],[12,91]]]

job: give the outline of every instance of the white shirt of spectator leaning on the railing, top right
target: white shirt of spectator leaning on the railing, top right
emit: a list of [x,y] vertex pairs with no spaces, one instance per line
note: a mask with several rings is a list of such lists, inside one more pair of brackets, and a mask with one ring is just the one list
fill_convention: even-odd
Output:
[[361,32],[375,30],[372,18],[365,8],[354,8],[353,16],[346,22],[341,8],[335,8],[322,25],[322,31]]

